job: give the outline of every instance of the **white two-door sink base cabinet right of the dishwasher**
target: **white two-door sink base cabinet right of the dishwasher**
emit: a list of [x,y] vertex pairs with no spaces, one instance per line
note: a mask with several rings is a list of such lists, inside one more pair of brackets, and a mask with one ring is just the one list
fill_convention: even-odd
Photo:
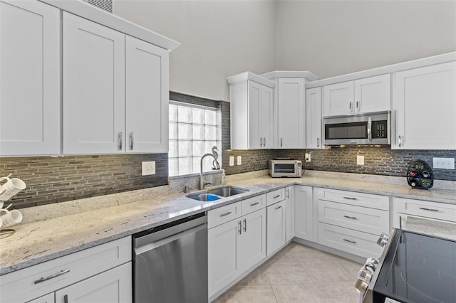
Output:
[[[209,297],[266,257],[264,201],[261,195],[208,212]],[[224,222],[227,217],[232,220]]]

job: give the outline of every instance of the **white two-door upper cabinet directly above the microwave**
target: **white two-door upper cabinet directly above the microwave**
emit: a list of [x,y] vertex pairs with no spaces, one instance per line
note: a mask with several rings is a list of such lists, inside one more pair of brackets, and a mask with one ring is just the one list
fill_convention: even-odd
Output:
[[389,74],[326,85],[323,90],[325,117],[391,109]]

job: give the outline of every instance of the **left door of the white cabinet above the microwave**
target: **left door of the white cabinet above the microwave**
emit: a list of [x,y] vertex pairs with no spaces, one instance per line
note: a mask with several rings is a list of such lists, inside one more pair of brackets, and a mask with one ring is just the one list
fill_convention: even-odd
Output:
[[350,115],[354,113],[353,81],[326,85],[323,90],[323,116]]

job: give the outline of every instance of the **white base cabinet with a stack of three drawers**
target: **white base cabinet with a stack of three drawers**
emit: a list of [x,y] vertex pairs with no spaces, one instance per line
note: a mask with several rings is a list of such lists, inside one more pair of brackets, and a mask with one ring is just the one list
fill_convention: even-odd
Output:
[[318,243],[344,252],[380,255],[380,233],[389,233],[389,197],[318,188]]

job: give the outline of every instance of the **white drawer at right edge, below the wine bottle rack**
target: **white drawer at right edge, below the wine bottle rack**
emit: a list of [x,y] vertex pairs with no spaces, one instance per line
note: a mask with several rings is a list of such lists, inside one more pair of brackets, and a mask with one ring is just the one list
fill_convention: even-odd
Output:
[[456,205],[430,201],[419,201],[408,198],[394,198],[395,213],[422,216],[456,222]]

